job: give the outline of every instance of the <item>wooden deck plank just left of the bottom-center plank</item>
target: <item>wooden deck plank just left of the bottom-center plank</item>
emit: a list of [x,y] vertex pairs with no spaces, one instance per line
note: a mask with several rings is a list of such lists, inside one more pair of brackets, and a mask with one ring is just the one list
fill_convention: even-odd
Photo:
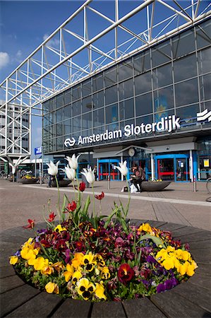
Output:
[[67,299],[61,304],[61,306],[56,310],[56,312],[52,314],[51,317],[66,317],[68,312],[68,318],[88,318],[90,313],[90,307],[91,302]]

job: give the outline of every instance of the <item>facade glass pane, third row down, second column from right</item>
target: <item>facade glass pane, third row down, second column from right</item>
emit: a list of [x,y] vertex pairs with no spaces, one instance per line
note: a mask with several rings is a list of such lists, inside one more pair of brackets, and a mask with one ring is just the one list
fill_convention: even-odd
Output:
[[198,81],[196,78],[175,85],[176,106],[198,102]]

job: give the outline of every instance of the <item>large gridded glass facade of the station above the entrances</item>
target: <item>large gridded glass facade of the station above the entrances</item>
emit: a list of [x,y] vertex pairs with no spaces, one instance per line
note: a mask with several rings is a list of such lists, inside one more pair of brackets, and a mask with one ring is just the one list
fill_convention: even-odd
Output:
[[[66,151],[66,139],[119,131],[175,114],[181,128],[170,134],[211,128],[197,112],[211,110],[210,20],[145,49],[43,103],[44,153]],[[116,133],[117,134],[117,133]],[[144,141],[166,131],[90,140],[74,148]]]

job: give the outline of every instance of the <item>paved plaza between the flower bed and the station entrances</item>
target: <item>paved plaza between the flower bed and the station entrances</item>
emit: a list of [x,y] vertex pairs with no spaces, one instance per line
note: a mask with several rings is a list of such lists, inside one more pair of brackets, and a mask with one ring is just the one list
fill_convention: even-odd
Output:
[[[102,213],[108,215],[111,208],[120,203],[124,206],[128,202],[128,193],[121,192],[125,182],[97,181],[94,184],[95,194],[104,192],[102,199]],[[47,184],[23,185],[16,182],[0,181],[0,230],[8,230],[17,226],[26,225],[28,218],[35,219],[36,223],[43,222],[43,213],[47,217],[48,201],[51,211],[56,213],[58,194],[56,188],[48,188]],[[74,199],[73,187],[60,188],[60,201],[66,194],[71,201]],[[90,195],[92,201],[92,189],[85,189],[83,201]],[[211,228],[211,203],[207,199],[211,195],[207,193],[205,182],[197,182],[197,191],[193,192],[191,183],[172,182],[162,192],[142,192],[131,195],[131,204],[128,218],[143,220],[159,220],[178,223],[204,230]],[[92,203],[90,204],[92,211]],[[99,201],[95,199],[95,211],[99,212]]]

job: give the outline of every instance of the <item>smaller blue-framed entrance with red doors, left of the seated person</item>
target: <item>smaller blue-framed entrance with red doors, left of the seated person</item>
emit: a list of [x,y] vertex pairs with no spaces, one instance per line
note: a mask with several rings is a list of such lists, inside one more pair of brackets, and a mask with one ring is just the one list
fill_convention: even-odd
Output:
[[114,166],[119,166],[119,159],[102,159],[98,160],[99,170],[98,176],[100,180],[107,179],[110,176],[111,180],[120,180],[121,176],[118,169]]

